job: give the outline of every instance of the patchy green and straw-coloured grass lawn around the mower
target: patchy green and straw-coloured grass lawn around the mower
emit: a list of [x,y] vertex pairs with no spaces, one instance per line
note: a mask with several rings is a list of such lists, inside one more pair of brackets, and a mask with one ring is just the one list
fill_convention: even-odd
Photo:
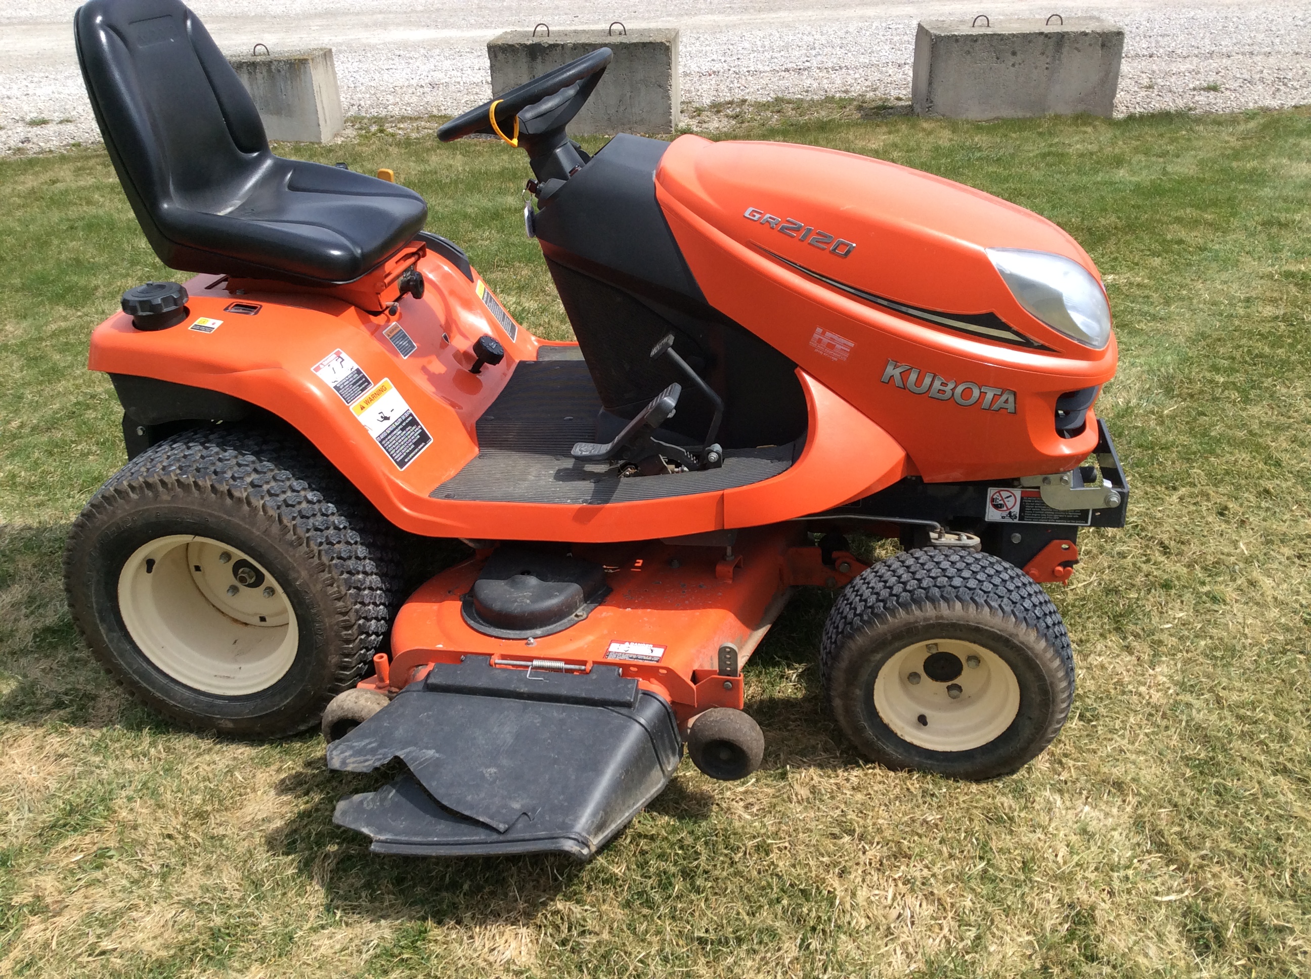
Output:
[[[839,106],[839,110],[842,106]],[[742,113],[964,181],[1105,274],[1100,410],[1133,484],[1054,590],[1063,734],[973,785],[861,764],[822,704],[831,602],[747,678],[767,754],[684,764],[594,862],[370,856],[317,735],[180,733],[80,646],[68,523],[123,461],[84,370],[118,294],[172,278],[101,152],[0,160],[0,975],[1311,974],[1311,111],[995,125]],[[515,316],[568,336],[523,237],[522,153],[374,130],[303,152],[393,166]]]

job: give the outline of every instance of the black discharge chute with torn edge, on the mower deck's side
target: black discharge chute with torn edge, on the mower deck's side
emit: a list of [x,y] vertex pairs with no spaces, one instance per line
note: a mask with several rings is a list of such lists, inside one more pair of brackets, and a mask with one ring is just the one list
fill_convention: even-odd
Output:
[[619,667],[589,674],[437,664],[350,734],[328,767],[409,772],[337,803],[375,853],[569,853],[589,860],[669,784],[674,712]]

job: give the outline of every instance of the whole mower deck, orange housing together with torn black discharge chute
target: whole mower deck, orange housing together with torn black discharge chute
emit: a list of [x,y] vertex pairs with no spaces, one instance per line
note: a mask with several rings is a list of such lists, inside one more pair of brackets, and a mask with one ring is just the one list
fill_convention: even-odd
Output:
[[[742,708],[742,666],[794,585],[846,585],[798,547],[798,524],[718,547],[574,545],[606,569],[608,592],[577,624],[528,638],[473,628],[479,556],[433,578],[401,608],[389,663],[361,687],[400,691],[328,750],[328,765],[389,785],[340,803],[336,820],[382,853],[561,851],[590,857],[665,788],[680,730],[709,708]],[[553,628],[553,626],[547,626]]]

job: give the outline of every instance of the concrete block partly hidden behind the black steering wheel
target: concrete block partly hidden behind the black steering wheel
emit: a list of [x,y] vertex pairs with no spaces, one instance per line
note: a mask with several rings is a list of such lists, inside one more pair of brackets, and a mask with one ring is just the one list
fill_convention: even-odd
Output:
[[488,42],[492,92],[499,98],[515,85],[558,68],[598,47],[615,52],[587,105],[569,123],[573,135],[673,132],[678,127],[678,30],[556,30],[532,37],[510,30]]

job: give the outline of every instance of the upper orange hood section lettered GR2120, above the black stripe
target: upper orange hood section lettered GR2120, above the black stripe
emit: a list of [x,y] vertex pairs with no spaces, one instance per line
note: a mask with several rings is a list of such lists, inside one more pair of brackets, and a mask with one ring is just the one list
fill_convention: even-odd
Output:
[[1097,277],[1088,253],[1047,219],[991,194],[836,149],[699,136],[670,147],[657,182],[707,224],[776,261],[926,311],[992,313],[1067,355],[1100,354],[1030,316],[985,249],[1053,252]]

